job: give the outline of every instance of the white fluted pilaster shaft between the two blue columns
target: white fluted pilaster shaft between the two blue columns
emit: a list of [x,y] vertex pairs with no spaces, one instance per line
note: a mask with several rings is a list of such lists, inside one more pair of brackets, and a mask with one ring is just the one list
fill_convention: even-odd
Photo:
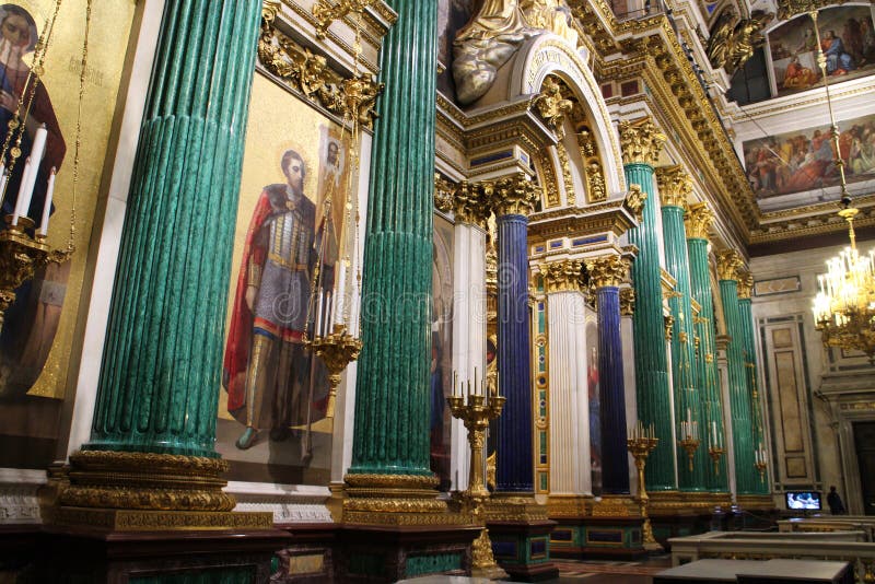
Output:
[[551,495],[593,492],[585,314],[580,292],[547,296]]

